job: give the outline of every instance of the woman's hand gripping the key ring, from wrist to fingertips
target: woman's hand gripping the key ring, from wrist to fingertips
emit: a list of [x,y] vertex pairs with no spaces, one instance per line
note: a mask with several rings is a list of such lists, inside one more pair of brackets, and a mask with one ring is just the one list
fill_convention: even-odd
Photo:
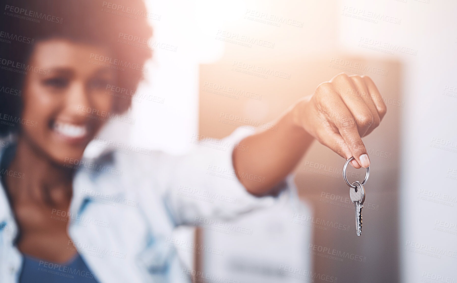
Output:
[[370,165],[361,137],[379,125],[386,111],[370,77],[344,73],[321,83],[292,110],[294,123],[346,160],[354,156],[355,168]]

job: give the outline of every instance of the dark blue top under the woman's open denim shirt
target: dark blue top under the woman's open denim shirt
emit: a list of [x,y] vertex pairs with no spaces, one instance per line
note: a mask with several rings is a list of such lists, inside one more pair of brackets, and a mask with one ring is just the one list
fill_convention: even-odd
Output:
[[58,264],[24,255],[19,283],[97,283],[92,273],[78,253],[68,262]]

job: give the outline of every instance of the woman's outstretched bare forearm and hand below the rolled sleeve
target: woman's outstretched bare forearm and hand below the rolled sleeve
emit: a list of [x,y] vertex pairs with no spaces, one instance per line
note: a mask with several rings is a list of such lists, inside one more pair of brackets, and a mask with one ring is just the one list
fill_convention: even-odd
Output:
[[379,125],[386,109],[369,77],[339,74],[272,122],[274,131],[263,129],[240,141],[249,151],[233,151],[237,175],[257,175],[265,181],[239,181],[251,194],[271,193],[297,166],[314,138],[345,159],[354,156],[351,164],[355,168],[368,167],[370,160],[361,137]]

